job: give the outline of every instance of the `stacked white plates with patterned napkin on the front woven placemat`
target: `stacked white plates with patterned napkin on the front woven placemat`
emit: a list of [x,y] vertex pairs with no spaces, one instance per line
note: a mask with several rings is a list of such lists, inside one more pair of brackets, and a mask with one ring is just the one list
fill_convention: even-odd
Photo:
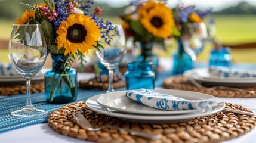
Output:
[[[147,91],[147,92],[146,92]],[[144,101],[142,104],[135,101],[137,98],[134,96],[128,98],[127,94],[129,92],[137,92],[137,96],[143,96],[147,93],[152,92],[152,98],[158,97],[158,101],[148,100]],[[162,94],[160,94],[162,93]],[[155,95],[154,95],[155,94]],[[173,95],[171,99],[168,99],[169,95]],[[174,96],[175,95],[175,96]],[[147,95],[146,95],[147,96]],[[150,96],[148,94],[148,96]],[[166,98],[165,98],[165,97]],[[180,97],[180,98],[178,98]],[[150,98],[150,97],[144,97]],[[139,100],[139,99],[137,99]],[[146,100],[146,99],[144,99]],[[185,103],[187,101],[187,103]],[[195,102],[194,107],[185,107],[185,105],[192,105],[191,102]],[[197,108],[196,104],[209,104],[209,102],[214,102],[215,107],[205,106],[202,108]],[[157,103],[158,102],[158,103]],[[175,103],[174,103],[175,102]],[[167,104],[168,103],[168,104]],[[145,105],[147,104],[147,105]],[[158,106],[153,106],[154,104],[159,104]],[[206,116],[208,114],[213,114],[221,111],[224,108],[224,102],[218,98],[212,97],[211,95],[193,93],[189,91],[172,91],[172,90],[153,90],[149,91],[147,89],[138,89],[136,91],[117,91],[109,94],[101,94],[91,98],[88,98],[87,107],[97,113],[106,114],[109,116],[119,117],[122,119],[127,119],[137,122],[181,122],[183,120],[192,119],[193,117]],[[175,107],[175,105],[177,107]],[[180,105],[180,109],[178,106]],[[150,107],[151,106],[151,107]],[[161,108],[162,107],[162,108]],[[101,108],[101,109],[100,109]],[[162,110],[159,110],[161,108]],[[171,111],[170,111],[171,110]]]

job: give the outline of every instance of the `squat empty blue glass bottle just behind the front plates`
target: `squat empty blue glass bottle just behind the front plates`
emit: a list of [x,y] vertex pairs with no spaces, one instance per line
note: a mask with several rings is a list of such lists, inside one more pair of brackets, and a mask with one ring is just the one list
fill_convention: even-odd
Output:
[[155,73],[152,62],[132,62],[127,64],[125,73],[126,89],[154,89]]

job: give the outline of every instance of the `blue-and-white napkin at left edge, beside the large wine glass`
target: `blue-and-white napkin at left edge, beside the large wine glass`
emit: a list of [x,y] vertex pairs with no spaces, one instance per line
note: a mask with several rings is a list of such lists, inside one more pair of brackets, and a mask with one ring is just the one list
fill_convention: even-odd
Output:
[[20,75],[14,69],[12,64],[0,63],[0,76],[16,76]]

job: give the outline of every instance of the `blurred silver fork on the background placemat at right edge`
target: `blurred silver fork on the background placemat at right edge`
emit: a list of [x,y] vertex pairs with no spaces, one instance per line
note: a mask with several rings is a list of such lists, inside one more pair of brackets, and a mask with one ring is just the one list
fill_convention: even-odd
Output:
[[195,85],[198,88],[209,89],[210,91],[213,91],[215,89],[227,89],[227,90],[232,90],[232,91],[246,92],[246,93],[249,93],[249,94],[254,94],[255,93],[254,91],[249,91],[249,90],[240,89],[240,88],[230,88],[230,87],[227,87],[227,86],[213,86],[211,88],[207,88],[205,86],[202,86],[200,83],[196,82],[196,80],[194,80],[194,79],[190,79],[190,82],[193,83],[193,85]]

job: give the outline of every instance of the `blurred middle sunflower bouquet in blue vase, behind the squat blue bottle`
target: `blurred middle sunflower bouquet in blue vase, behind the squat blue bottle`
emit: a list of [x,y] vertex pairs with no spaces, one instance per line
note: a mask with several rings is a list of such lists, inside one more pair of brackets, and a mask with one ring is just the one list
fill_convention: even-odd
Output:
[[[141,43],[141,56],[137,61],[153,61],[156,67],[158,59],[152,54],[153,43],[165,48],[165,39],[170,38],[173,32],[174,17],[172,10],[164,1],[132,1],[125,8],[122,26],[127,38],[134,38],[134,42]],[[156,71],[156,70],[155,70]]]

